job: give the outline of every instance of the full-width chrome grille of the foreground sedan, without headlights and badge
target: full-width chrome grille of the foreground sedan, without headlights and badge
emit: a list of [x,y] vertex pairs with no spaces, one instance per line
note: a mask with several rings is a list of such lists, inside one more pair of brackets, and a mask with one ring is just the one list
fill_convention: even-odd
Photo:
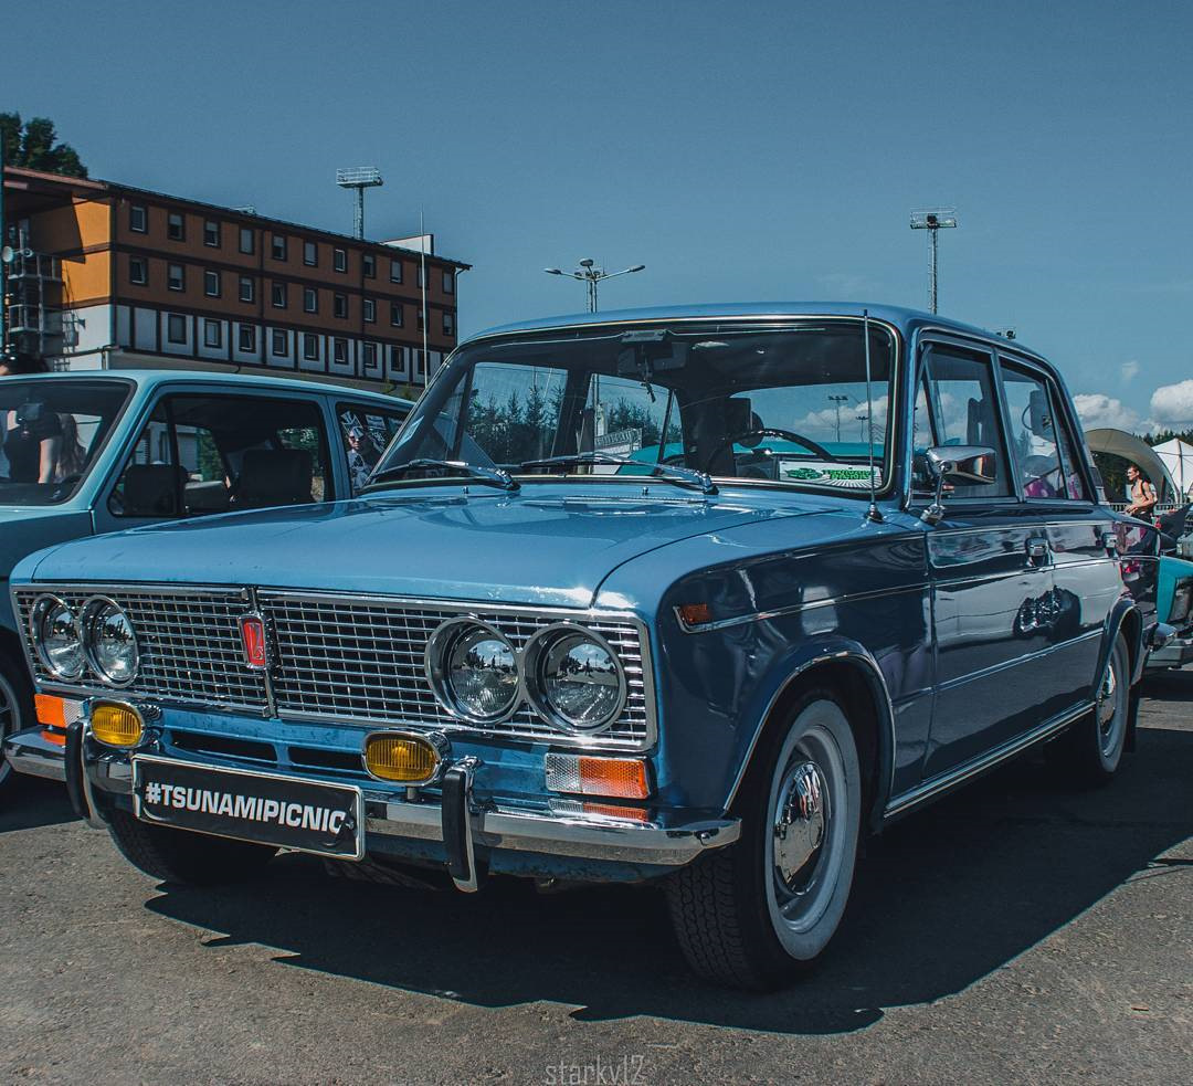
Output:
[[[654,741],[653,690],[644,628],[630,616],[562,609],[524,610],[353,594],[261,590],[256,610],[272,641],[270,678],[245,662],[239,618],[252,607],[247,588],[143,588],[111,585],[38,585],[14,593],[20,629],[41,685],[72,693],[111,693],[98,680],[55,679],[33,650],[29,615],[43,594],[57,596],[78,613],[93,596],[125,609],[137,631],[141,668],[124,696],[187,705],[271,708],[283,720],[329,723],[413,724],[475,734],[544,739],[598,748],[642,748]],[[465,726],[443,709],[424,670],[424,650],[435,628],[470,615],[499,629],[515,649],[545,625],[579,622],[600,634],[622,660],[625,708],[599,735],[579,739],[554,728],[523,704],[507,721]]]

